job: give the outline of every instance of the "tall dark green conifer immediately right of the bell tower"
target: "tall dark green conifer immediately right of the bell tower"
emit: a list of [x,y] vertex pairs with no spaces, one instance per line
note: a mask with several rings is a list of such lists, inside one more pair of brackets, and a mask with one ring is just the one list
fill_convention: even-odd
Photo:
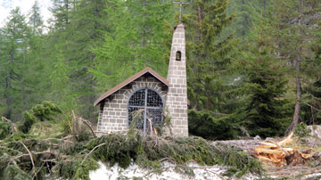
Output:
[[193,1],[186,9],[190,12],[183,16],[188,98],[193,109],[189,111],[189,133],[210,139],[235,138],[241,135],[234,126],[236,103],[232,103],[237,98],[237,82],[230,79],[229,71],[236,40],[233,34],[222,36],[233,16],[227,14],[225,0]]

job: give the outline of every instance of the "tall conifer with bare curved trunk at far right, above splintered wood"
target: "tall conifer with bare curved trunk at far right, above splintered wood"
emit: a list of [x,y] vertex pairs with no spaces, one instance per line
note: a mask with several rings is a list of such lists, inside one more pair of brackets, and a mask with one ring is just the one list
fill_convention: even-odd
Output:
[[317,26],[313,26],[316,20],[317,9],[320,4],[315,0],[286,0],[274,1],[278,38],[276,38],[280,59],[287,61],[292,65],[293,77],[295,78],[296,95],[295,108],[292,125],[288,128],[287,133],[292,132],[300,120],[300,106],[302,101],[302,79],[309,74],[309,69],[303,68],[308,65],[312,58],[310,54],[311,36]]

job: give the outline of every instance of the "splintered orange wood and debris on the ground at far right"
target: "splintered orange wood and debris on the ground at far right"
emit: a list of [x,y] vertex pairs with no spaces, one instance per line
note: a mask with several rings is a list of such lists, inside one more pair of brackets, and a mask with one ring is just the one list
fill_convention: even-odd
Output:
[[[276,179],[321,179],[321,143],[316,143],[321,142],[321,132],[318,132],[321,131],[321,127],[313,126],[308,128],[311,129],[311,132],[304,137],[292,135],[284,140],[278,137],[267,138],[266,142],[248,139],[213,143],[235,145],[253,156],[258,156],[261,152],[261,157],[263,157],[261,160],[264,157],[272,157],[271,159],[263,160],[263,168],[266,170],[264,176]],[[288,162],[289,165],[287,165],[285,160],[286,152],[284,150],[287,150],[290,154],[296,151],[296,155],[300,156],[297,156],[298,159],[292,161],[295,163]],[[269,153],[264,154],[262,151]],[[299,161],[300,163],[297,163]]]

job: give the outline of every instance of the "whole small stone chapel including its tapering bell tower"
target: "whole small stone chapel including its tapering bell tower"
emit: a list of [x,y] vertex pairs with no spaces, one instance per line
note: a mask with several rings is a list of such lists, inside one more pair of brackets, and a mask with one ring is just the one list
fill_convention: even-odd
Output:
[[102,94],[94,102],[94,106],[100,105],[97,131],[108,133],[128,130],[133,120],[131,112],[144,110],[144,123],[138,123],[137,128],[144,131],[145,135],[150,127],[147,115],[152,119],[153,127],[161,123],[162,113],[167,109],[173,135],[187,136],[185,60],[185,26],[180,23],[173,34],[168,77],[163,78],[147,67]]

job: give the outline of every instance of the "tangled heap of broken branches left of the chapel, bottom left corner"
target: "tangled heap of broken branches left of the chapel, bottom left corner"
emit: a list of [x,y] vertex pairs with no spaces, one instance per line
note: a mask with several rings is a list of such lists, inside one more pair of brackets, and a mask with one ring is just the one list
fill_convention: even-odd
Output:
[[[39,110],[41,109],[38,108]],[[42,110],[45,112],[45,110]],[[31,111],[33,112],[33,111]],[[47,113],[48,114],[48,113]],[[52,114],[52,113],[51,113]],[[6,179],[56,179],[75,178],[89,179],[89,170],[99,168],[96,160],[87,158],[86,143],[95,138],[91,124],[86,119],[75,116],[72,112],[71,135],[39,136],[33,135],[29,129],[41,126],[37,121],[45,119],[29,119],[22,123],[13,123],[2,117],[0,120],[0,177]],[[53,120],[46,119],[46,122]],[[25,128],[27,125],[28,128]],[[53,126],[60,124],[53,123]],[[90,127],[90,128],[88,128]],[[28,133],[24,133],[28,129]],[[86,169],[87,168],[87,169]]]

